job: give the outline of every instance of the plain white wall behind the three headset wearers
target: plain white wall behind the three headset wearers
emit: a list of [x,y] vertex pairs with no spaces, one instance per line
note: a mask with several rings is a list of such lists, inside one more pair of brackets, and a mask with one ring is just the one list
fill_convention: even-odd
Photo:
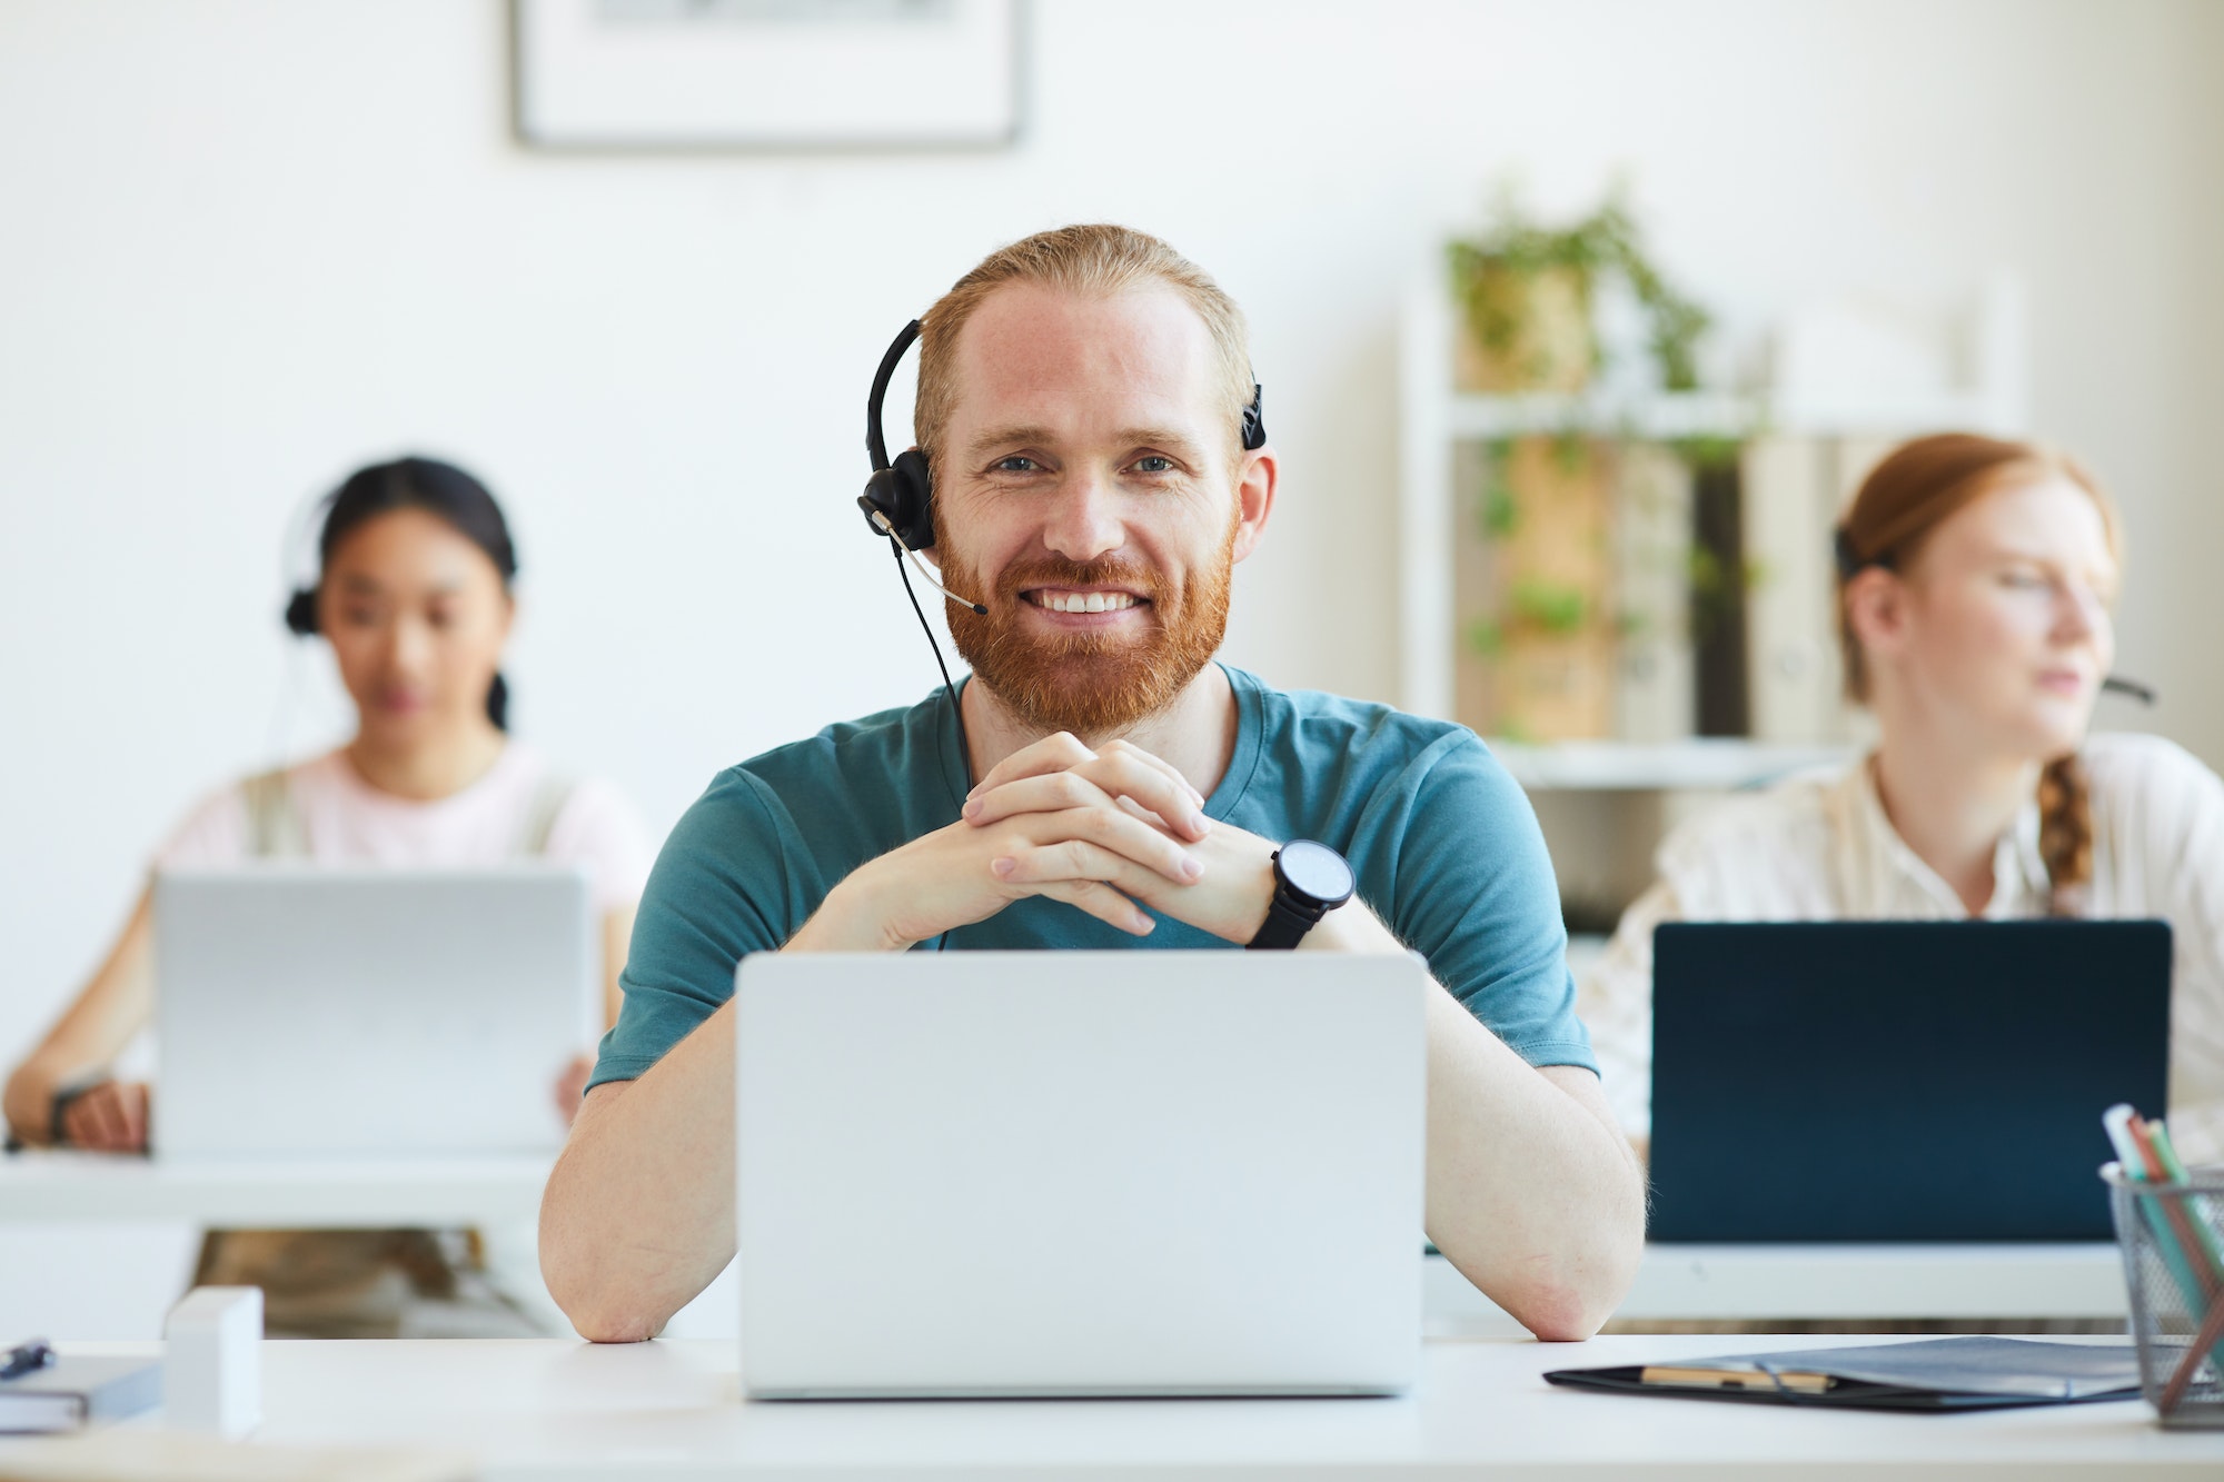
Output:
[[[2124,668],[2224,763],[2224,7],[1043,0],[1023,147],[552,158],[494,0],[0,0],[0,1061],[280,705],[280,532],[418,447],[523,545],[523,730],[665,828],[723,763],[932,683],[850,505],[890,334],[1074,218],[1245,303],[1285,503],[1230,652],[1394,694],[1392,323],[1488,182],[1635,171],[1732,327],[2019,265],[2035,412],[2119,487]],[[956,85],[921,78],[923,87]]]

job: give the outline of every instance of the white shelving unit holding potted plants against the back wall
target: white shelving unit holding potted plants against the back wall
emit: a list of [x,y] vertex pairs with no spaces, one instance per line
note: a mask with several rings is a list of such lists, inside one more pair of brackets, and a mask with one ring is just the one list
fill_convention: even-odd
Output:
[[[1632,441],[1759,438],[1755,456],[1768,449],[1773,474],[1806,467],[1797,496],[1788,485],[1748,487],[1748,541],[1759,541],[1764,561],[1777,547],[1786,556],[1777,563],[1781,585],[1757,592],[1748,632],[1753,672],[1773,685],[1766,705],[1759,690],[1755,696],[1764,734],[1824,737],[1839,714],[1837,661],[1824,625],[1801,614],[1817,583],[1828,583],[1837,483],[1819,472],[1821,452],[1806,449],[1799,438],[1828,449],[1835,467],[1924,432],[1959,427],[2017,436],[2026,429],[2024,312],[2008,274],[1995,274],[1966,305],[1928,325],[1861,305],[1788,314],[1775,334],[1777,385],[1764,394],[1466,396],[1452,381],[1454,323],[1441,274],[1408,289],[1397,372],[1399,699],[1417,714],[1457,719],[1454,470],[1463,443],[1561,432]],[[1619,910],[1644,888],[1659,839],[1704,808],[1708,794],[1841,765],[1855,754],[1850,745],[1744,739],[1490,741],[1490,750],[1530,792],[1561,890],[1592,912]]]

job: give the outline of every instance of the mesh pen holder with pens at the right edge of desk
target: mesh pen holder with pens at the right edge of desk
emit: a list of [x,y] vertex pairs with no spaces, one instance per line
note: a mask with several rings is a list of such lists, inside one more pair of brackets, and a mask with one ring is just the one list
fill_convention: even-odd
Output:
[[2224,1168],[2184,1184],[2099,1170],[2131,1288],[2139,1389],[2166,1426],[2224,1426]]

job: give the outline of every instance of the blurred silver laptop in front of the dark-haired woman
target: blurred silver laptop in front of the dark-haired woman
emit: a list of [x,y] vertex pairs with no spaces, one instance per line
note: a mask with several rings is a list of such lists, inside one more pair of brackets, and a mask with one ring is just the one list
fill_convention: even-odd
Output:
[[600,1021],[583,872],[162,872],[153,908],[160,1157],[563,1144]]

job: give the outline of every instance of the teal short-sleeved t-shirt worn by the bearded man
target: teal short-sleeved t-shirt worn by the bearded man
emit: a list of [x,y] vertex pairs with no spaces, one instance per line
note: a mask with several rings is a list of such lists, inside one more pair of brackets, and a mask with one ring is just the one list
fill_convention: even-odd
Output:
[[[1517,1055],[1597,1070],[1537,814],[1475,732],[1237,668],[1228,681],[1237,748],[1205,817],[1339,850],[1359,897]],[[970,788],[941,690],[721,772],[649,872],[625,1008],[589,1084],[654,1066],[734,997],[745,955],[778,950],[861,863],[956,823]],[[992,948],[1241,950],[1168,917],[1130,937],[1041,897],[947,932],[952,952]]]

